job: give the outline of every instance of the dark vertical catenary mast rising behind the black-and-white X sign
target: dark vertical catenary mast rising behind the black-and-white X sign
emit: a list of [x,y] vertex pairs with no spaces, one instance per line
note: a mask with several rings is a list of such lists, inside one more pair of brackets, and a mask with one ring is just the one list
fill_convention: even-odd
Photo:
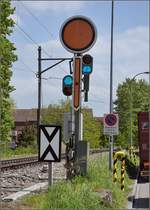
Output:
[[39,143],[39,125],[41,122],[41,46],[38,47],[38,109],[37,109],[37,143]]

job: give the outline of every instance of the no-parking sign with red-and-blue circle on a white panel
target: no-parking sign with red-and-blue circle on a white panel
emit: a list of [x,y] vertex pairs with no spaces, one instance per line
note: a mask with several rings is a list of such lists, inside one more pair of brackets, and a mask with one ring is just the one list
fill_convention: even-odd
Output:
[[104,115],[104,135],[118,135],[119,133],[119,117],[118,114],[105,114]]

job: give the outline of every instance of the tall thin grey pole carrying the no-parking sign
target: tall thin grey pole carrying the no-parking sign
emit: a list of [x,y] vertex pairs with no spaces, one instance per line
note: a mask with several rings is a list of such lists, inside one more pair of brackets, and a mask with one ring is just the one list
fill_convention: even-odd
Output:
[[[114,25],[114,0],[111,6],[111,48],[110,48],[110,113],[113,113],[113,25]],[[109,136],[109,170],[113,167],[113,135]]]

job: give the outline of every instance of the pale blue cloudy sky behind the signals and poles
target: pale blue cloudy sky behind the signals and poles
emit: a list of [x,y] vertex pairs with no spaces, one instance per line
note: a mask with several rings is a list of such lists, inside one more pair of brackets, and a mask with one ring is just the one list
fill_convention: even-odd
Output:
[[[93,56],[94,63],[93,73],[90,76],[89,102],[83,104],[92,108],[95,116],[108,113],[111,1],[12,1],[12,6],[16,7],[13,19],[17,26],[9,38],[17,48],[18,61],[12,68],[11,83],[16,90],[11,96],[17,108],[37,107],[35,73],[38,70],[38,45],[44,50],[42,52],[44,58],[48,55],[54,58],[72,57],[73,54],[61,45],[59,30],[67,18],[83,15],[95,23],[98,32],[94,47],[88,51]],[[113,100],[116,98],[118,84],[125,78],[132,78],[139,72],[149,71],[148,8],[148,1],[115,1]],[[52,64],[53,62],[49,61],[43,62],[42,68]],[[43,74],[45,78],[52,77],[42,81],[43,106],[66,99],[62,93],[62,78],[66,74],[69,74],[68,62]],[[148,81],[147,75],[138,78]]]

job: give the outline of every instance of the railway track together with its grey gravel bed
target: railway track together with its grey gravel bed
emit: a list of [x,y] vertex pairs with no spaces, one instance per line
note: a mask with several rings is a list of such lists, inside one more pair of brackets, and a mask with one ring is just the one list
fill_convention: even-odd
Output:
[[[106,150],[90,150],[91,156],[108,152]],[[65,154],[61,155],[61,162],[53,164],[54,182],[66,179]],[[48,164],[38,161],[37,156],[19,157],[1,161],[0,194],[4,199],[7,196],[23,191],[38,183],[48,180]]]

